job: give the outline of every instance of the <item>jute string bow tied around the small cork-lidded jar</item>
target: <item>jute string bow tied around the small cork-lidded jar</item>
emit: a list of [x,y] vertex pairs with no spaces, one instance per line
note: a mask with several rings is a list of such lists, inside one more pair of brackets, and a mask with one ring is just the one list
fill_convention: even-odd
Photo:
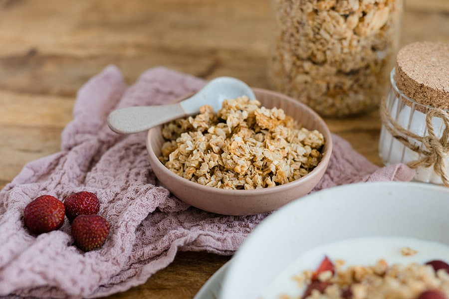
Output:
[[[400,95],[397,95],[400,98]],[[387,98],[385,97],[381,105],[381,118],[385,128],[398,141],[407,148],[420,154],[420,158],[407,163],[409,167],[417,168],[419,166],[434,166],[435,172],[440,175],[445,186],[449,187],[449,176],[446,170],[446,158],[449,154],[449,114],[446,110],[440,108],[429,109],[426,113],[427,136],[416,135],[409,130],[403,128],[390,115],[387,109]],[[445,125],[443,135],[438,138],[435,135],[432,118],[438,117],[442,119]],[[390,124],[390,125],[389,125]],[[410,140],[417,141],[411,143]],[[420,145],[421,144],[421,145]]]

